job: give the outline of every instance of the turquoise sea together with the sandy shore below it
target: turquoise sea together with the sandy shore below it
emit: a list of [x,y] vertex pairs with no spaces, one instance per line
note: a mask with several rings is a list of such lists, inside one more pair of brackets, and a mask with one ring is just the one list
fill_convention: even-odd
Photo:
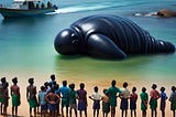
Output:
[[[37,91],[44,82],[50,81],[51,74],[56,75],[56,81],[62,86],[62,81],[68,84],[75,83],[76,89],[79,83],[86,84],[88,96],[92,94],[94,86],[110,87],[112,79],[117,86],[122,87],[123,82],[129,83],[129,89],[136,86],[138,94],[145,86],[147,93],[153,83],[166,88],[167,96],[175,84],[176,54],[152,54],[128,56],[123,61],[98,60],[84,55],[63,56],[54,49],[54,40],[57,33],[76,20],[92,14],[114,14],[124,17],[150,32],[155,39],[162,39],[176,45],[175,18],[160,18],[150,14],[160,9],[176,10],[174,0],[54,0],[58,10],[46,15],[3,19],[0,17],[0,77],[6,76],[10,86],[13,77],[19,78],[22,102],[19,107],[19,116],[29,116],[29,105],[25,98],[28,79],[34,77]],[[1,3],[10,4],[12,0],[2,0]],[[11,98],[10,98],[11,99]],[[92,117],[92,102],[88,99],[88,117]],[[158,100],[160,103],[160,100]],[[138,116],[141,116],[141,100],[138,99]],[[120,99],[118,99],[117,115],[120,115]],[[166,117],[172,116],[167,100]],[[158,117],[161,116],[160,108]],[[100,110],[101,111],[101,110]],[[8,114],[11,115],[11,100]],[[151,114],[150,108],[147,115]],[[130,115],[130,110],[129,110]],[[100,117],[102,117],[100,113]]]

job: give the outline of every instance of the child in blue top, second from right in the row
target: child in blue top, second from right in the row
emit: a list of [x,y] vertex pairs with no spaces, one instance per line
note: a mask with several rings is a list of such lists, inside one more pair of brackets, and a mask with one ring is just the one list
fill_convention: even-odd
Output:
[[162,117],[165,117],[165,107],[166,107],[166,93],[165,87],[161,87],[161,110],[162,110]]

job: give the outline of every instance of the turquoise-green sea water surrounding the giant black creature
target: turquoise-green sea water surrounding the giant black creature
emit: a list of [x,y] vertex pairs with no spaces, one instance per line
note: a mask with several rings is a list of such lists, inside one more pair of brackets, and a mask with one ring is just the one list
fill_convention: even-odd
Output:
[[[112,1],[112,2],[111,2]],[[66,1],[73,3],[69,0]],[[107,1],[108,2],[108,1]],[[91,4],[90,4],[91,3]],[[99,8],[90,10],[95,2],[67,4],[61,8],[68,13],[55,13],[36,18],[10,19],[0,18],[0,73],[8,74],[56,74],[61,77],[90,78],[90,79],[175,79],[176,54],[129,56],[124,61],[95,60],[88,56],[62,56],[54,50],[53,43],[56,34],[68,28],[79,18],[97,14],[112,13],[127,17],[156,39],[164,39],[176,44],[176,19],[162,19],[155,17],[135,17],[136,11],[155,11],[158,7],[173,7],[173,1],[166,4],[155,1],[151,4],[145,1],[121,1],[124,7],[113,7],[110,0],[107,8],[96,2]],[[64,4],[64,3],[63,3]],[[79,4],[79,6],[78,6]],[[90,4],[90,6],[88,6]],[[66,6],[66,3],[65,3]],[[82,8],[81,8],[82,6]],[[112,6],[112,7],[111,7]],[[75,8],[74,8],[75,7]],[[151,9],[146,9],[151,7]],[[133,9],[132,8],[138,8]],[[173,7],[174,8],[174,7]],[[74,9],[76,9],[74,11]],[[92,8],[91,8],[92,9]],[[73,12],[72,12],[73,10]]]

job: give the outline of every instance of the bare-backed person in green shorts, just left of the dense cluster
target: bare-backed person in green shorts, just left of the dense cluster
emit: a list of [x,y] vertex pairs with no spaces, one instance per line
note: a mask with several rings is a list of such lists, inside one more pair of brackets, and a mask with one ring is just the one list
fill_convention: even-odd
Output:
[[36,86],[34,86],[34,78],[29,78],[30,85],[26,87],[26,99],[30,105],[30,117],[32,116],[32,108],[34,109],[34,116],[36,116],[36,107],[37,100],[36,100]]

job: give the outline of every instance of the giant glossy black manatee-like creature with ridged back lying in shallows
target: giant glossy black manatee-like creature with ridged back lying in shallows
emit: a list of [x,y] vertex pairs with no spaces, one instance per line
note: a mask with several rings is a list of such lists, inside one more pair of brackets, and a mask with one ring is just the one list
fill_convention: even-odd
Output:
[[61,31],[55,50],[64,55],[86,54],[100,59],[125,59],[129,54],[173,53],[174,44],[155,40],[129,19],[90,15]]

